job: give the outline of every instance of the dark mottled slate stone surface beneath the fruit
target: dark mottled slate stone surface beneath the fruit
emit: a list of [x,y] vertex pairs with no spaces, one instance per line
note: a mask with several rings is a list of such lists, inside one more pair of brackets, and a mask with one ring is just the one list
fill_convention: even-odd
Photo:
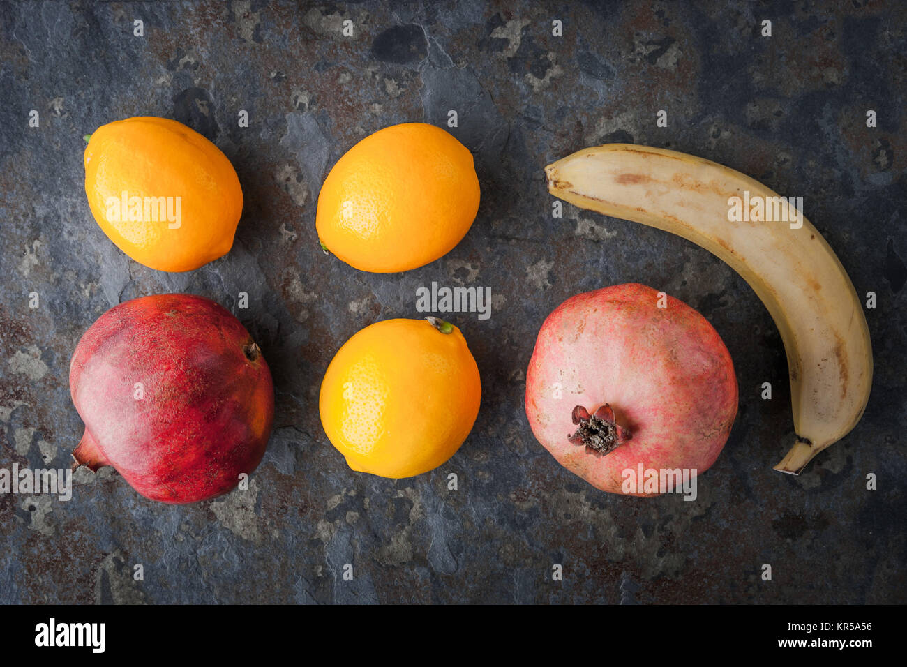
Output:
[[[0,602],[904,602],[904,17],[898,2],[858,0],[0,4],[0,466],[68,466],[82,431],[69,358],[124,299],[219,301],[264,348],[278,392],[248,492],[158,505],[107,470],[80,471],[68,503],[0,496]],[[340,34],[346,18],[352,38]],[[763,18],[771,38],[758,34]],[[39,129],[27,126],[31,109]],[[483,189],[463,242],[405,274],[323,255],[315,201],[327,169],[370,132],[443,124],[449,109]],[[127,259],[85,200],[83,134],[144,114],[190,124],[239,172],[236,244],[200,270]],[[661,231],[571,206],[552,220],[542,167],[613,141],[695,153],[803,195],[857,291],[877,293],[869,407],[803,476],[772,470],[794,437],[785,355],[746,283]],[[483,376],[473,435],[431,474],[353,473],[320,427],[322,374],[366,324],[418,317],[415,289],[433,280],[495,296],[490,320],[452,316]],[[526,423],[542,319],[573,294],[627,281],[699,309],[736,364],[739,417],[697,502],[600,493]],[[236,308],[243,290],[248,310]],[[766,381],[774,400],[759,398]],[[458,491],[446,489],[451,472]]]

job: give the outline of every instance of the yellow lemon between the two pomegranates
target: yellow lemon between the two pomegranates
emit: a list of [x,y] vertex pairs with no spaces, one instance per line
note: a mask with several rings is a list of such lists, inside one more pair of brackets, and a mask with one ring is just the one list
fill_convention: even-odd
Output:
[[479,369],[459,329],[434,318],[385,319],[337,351],[318,409],[348,466],[398,478],[453,456],[481,397]]

